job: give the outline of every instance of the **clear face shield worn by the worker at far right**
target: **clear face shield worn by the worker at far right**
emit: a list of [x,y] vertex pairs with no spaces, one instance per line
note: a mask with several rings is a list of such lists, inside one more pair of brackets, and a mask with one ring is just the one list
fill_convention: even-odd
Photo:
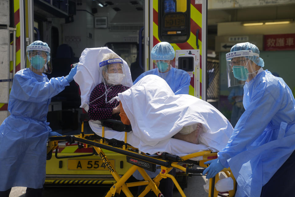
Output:
[[259,57],[259,54],[252,50],[239,50],[226,54],[228,87],[244,85],[249,77],[256,76],[255,63],[249,59],[251,56]]

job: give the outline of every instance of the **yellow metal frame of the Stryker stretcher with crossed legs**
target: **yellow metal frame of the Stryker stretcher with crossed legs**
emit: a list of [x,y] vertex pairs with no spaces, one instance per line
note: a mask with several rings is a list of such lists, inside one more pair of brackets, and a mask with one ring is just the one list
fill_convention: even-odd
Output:
[[[79,143],[83,143],[85,148],[92,146],[97,152],[97,154],[100,156],[104,164],[108,167],[108,170],[110,171],[113,178],[116,180],[116,183],[110,188],[110,190],[107,192],[105,197],[115,196],[116,193],[120,194],[121,191],[123,191],[127,197],[133,197],[132,193],[130,192],[128,188],[135,187],[135,186],[142,186],[142,185],[146,185],[146,188],[144,189],[144,191],[142,191],[138,195],[138,197],[144,197],[149,191],[153,191],[155,195],[158,197],[163,197],[164,195],[161,193],[158,187],[159,187],[160,180],[166,179],[166,178],[172,179],[173,183],[175,184],[181,196],[185,197],[186,195],[184,194],[183,190],[181,189],[175,177],[168,173],[173,168],[182,170],[185,173],[194,173],[194,172],[202,173],[203,169],[198,169],[198,170],[189,169],[179,165],[179,163],[183,163],[191,158],[203,156],[203,159],[199,161],[199,166],[206,168],[208,167],[208,165],[204,164],[204,162],[211,160],[209,158],[217,157],[217,153],[212,153],[211,151],[196,152],[196,153],[185,155],[183,157],[172,155],[172,157],[170,158],[168,157],[166,159],[162,159],[160,158],[160,156],[157,158],[151,157],[146,155],[143,152],[138,151],[137,148],[128,145],[126,142],[127,133],[128,132],[125,132],[124,145],[122,147],[113,147],[109,145],[108,142],[104,139],[104,127],[102,127],[101,139],[92,140],[89,138],[91,136],[94,136],[94,134],[87,134],[87,135],[84,134],[84,122],[82,122],[82,129],[81,129],[80,135],[50,137],[48,145],[47,145],[47,154],[50,154],[53,150],[57,148],[58,141],[60,140],[62,141],[66,140],[70,143],[74,143],[75,141],[77,141]],[[123,176],[120,177],[120,175],[116,172],[116,169],[109,162],[107,156],[104,154],[102,149],[120,153],[134,159],[140,159],[142,161],[146,161],[147,163],[158,164],[161,167],[161,171],[159,175],[157,175],[154,179],[151,179],[151,177],[146,173],[146,171],[142,167],[132,165],[132,167],[129,168],[128,171]],[[176,159],[171,159],[171,158],[176,158]],[[138,170],[140,174],[143,176],[144,181],[125,183],[136,170]],[[230,168],[224,168],[222,171],[225,173],[227,177],[231,177],[234,180],[234,188],[236,188],[236,181],[232,172],[230,171]],[[218,174],[214,178],[209,179],[209,195],[208,195],[209,197],[218,196],[218,191],[214,187],[214,185],[217,183],[218,180],[219,180]],[[228,191],[228,195],[226,196],[233,197],[235,195],[235,190],[236,189]],[[222,196],[225,196],[225,195],[222,195]]]

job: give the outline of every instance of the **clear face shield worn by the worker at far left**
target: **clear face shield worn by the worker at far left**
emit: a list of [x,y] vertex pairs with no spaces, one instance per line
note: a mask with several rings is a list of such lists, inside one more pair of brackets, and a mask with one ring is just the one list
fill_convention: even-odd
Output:
[[26,68],[33,72],[51,73],[50,48],[41,45],[27,46]]

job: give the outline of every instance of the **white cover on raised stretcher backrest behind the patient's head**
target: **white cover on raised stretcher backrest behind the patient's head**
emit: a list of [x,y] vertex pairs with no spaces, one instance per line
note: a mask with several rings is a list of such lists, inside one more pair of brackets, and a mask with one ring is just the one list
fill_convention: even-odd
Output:
[[[81,108],[88,111],[89,97],[96,85],[102,82],[102,77],[99,73],[99,63],[102,61],[103,54],[115,53],[108,47],[86,48],[81,53],[77,73],[74,76],[75,82],[79,85],[81,91]],[[121,58],[122,59],[122,58]],[[123,86],[131,87],[132,78],[129,66],[123,59],[126,77],[122,81]]]

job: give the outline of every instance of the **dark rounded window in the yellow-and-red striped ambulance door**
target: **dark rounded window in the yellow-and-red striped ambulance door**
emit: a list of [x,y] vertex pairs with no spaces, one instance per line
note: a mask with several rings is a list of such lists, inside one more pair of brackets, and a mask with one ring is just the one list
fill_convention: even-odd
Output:
[[190,1],[160,0],[158,9],[158,34],[163,42],[186,42],[191,32]]

